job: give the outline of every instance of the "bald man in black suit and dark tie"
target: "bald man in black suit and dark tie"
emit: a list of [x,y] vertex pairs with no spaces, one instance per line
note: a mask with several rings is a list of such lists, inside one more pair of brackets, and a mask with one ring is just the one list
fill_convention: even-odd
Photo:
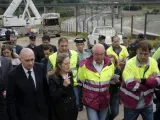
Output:
[[7,108],[10,120],[48,120],[48,84],[42,64],[34,63],[34,52],[23,48],[21,64],[8,76]]

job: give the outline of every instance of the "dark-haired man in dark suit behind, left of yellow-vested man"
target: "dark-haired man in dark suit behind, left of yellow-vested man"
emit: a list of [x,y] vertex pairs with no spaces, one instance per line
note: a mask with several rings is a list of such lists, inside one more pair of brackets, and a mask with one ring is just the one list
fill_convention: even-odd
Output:
[[[42,44],[37,46],[36,48],[36,62],[40,62],[44,57],[44,52],[43,52],[43,45],[49,44],[50,43],[50,37],[48,35],[44,35],[42,37]],[[51,44],[49,44],[51,45]],[[54,45],[51,45],[53,48],[53,52],[57,52],[57,48]]]

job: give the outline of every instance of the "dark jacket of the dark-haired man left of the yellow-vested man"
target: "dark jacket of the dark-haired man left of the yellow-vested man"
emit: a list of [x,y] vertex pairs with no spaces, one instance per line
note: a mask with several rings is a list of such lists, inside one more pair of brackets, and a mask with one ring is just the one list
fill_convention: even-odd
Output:
[[[54,45],[51,45],[54,52],[57,52],[57,48]],[[36,62],[41,62],[41,60],[45,57],[43,52],[43,45],[39,45],[36,47]]]

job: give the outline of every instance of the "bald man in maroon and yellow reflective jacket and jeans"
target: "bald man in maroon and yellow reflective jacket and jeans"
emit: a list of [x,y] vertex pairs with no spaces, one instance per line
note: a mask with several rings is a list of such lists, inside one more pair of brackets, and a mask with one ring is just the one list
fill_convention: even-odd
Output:
[[109,83],[114,75],[114,65],[105,57],[105,48],[96,44],[93,55],[80,62],[78,78],[83,83],[83,104],[88,120],[105,120],[110,101]]

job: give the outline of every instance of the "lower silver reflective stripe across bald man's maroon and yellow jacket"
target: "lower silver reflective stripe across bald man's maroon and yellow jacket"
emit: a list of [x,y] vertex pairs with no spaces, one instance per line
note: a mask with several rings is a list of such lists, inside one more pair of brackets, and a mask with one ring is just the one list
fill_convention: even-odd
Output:
[[91,87],[87,84],[84,84],[83,85],[84,88],[88,89],[88,90],[91,90],[91,91],[94,91],[94,92],[104,92],[104,91],[108,91],[108,87],[105,87],[105,88],[95,88],[95,87]]

